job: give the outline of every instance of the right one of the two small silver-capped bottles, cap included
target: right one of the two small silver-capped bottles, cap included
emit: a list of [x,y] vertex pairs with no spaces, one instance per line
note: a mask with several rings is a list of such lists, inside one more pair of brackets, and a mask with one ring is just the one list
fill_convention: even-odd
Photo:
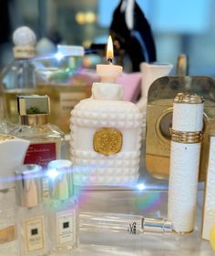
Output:
[[78,244],[78,208],[72,179],[72,162],[54,160],[48,164],[50,204],[48,226],[51,251],[67,253]]

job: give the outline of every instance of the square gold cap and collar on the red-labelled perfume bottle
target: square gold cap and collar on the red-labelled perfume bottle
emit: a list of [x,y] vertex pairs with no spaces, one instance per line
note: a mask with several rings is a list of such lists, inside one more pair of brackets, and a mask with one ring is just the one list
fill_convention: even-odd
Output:
[[50,113],[50,99],[46,95],[18,95],[17,108],[22,125],[44,125]]

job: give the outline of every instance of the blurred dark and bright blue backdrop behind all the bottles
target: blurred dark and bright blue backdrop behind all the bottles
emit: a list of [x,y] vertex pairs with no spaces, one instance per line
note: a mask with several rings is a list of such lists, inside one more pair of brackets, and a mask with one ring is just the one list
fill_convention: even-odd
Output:
[[[138,0],[148,18],[159,62],[176,64],[189,56],[190,75],[215,75],[215,1]],[[55,44],[106,44],[119,0],[4,0],[0,10],[0,67],[13,59],[12,33],[30,26],[37,40]],[[174,70],[173,70],[174,72]]]

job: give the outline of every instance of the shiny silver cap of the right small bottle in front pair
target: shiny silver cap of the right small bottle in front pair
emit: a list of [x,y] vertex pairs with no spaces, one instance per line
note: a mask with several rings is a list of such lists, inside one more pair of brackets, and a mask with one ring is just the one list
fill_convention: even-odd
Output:
[[74,195],[72,162],[65,159],[54,160],[49,162],[47,169],[51,198],[54,200],[70,199]]

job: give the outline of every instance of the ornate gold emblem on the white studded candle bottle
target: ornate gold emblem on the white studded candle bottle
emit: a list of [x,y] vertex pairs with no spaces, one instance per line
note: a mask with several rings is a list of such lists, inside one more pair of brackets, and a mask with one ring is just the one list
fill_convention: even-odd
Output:
[[94,135],[93,147],[99,154],[117,154],[122,148],[122,133],[116,128],[100,128]]

